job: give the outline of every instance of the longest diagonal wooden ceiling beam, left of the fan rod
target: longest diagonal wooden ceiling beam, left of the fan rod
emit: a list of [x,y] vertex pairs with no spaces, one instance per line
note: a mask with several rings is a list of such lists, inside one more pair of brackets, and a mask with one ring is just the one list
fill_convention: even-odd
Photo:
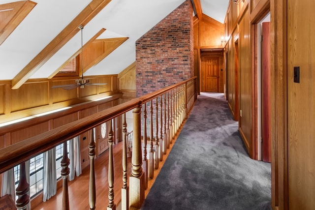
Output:
[[111,0],[92,0],[31,62],[13,79],[12,89],[20,88],[47,60],[60,50],[80,29],[100,12]]

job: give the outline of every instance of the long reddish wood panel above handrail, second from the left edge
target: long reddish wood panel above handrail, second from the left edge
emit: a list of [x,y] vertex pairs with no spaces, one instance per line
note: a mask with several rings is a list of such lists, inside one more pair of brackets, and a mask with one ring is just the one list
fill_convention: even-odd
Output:
[[11,132],[11,143],[15,144],[25,139],[37,136],[49,130],[49,122],[42,122],[36,125],[32,125],[27,128],[23,128],[17,131]]

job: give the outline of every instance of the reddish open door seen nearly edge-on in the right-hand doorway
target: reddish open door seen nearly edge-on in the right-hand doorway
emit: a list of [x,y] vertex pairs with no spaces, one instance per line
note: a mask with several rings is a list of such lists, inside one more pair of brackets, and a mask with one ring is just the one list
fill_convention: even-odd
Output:
[[271,141],[270,141],[270,23],[262,23],[262,160],[271,162]]

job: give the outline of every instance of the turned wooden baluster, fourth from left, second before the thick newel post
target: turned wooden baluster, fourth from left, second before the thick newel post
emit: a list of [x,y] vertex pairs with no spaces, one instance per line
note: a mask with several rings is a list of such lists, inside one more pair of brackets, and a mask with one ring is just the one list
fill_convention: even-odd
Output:
[[116,204],[114,203],[114,158],[113,158],[113,143],[114,143],[113,122],[109,120],[109,132],[108,132],[108,206],[107,210],[116,210]]

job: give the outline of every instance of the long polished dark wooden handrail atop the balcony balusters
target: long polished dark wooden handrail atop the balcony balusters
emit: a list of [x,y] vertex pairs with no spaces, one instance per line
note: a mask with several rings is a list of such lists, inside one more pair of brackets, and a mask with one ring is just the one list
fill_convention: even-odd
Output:
[[179,87],[194,79],[196,79],[196,77],[192,77],[188,80],[179,82],[169,87],[165,87],[161,90],[156,90],[144,96],[131,99],[130,101],[127,101],[123,104],[119,104],[104,111],[95,113],[91,116],[64,124],[50,131],[2,148],[0,149],[0,173],[3,173],[15,165],[18,165],[39,153],[50,150],[64,141],[91,130],[103,122],[118,117],[121,114],[126,113],[127,111],[130,111],[133,108],[138,107],[158,97],[159,95],[162,95],[165,92]]

